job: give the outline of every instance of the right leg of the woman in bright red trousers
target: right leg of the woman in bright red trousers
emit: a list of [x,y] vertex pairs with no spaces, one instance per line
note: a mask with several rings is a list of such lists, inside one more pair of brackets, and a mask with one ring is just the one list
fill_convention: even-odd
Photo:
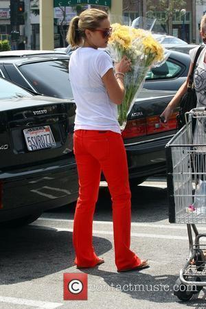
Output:
[[117,270],[133,268],[141,260],[130,250],[131,203],[128,165],[122,135],[108,131],[108,157],[101,167],[113,202],[113,232]]

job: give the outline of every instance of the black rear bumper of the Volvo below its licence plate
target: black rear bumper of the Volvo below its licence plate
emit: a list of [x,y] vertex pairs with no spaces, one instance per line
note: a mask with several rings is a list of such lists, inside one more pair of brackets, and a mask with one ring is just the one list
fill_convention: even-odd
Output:
[[1,173],[0,222],[76,201],[76,162],[65,159],[59,163],[38,166],[35,170]]

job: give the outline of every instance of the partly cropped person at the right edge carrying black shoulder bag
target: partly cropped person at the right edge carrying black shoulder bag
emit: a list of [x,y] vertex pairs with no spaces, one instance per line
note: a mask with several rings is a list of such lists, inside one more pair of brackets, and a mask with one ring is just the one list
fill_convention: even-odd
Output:
[[[201,19],[201,36],[203,38],[203,43],[206,44],[206,14]],[[164,117],[164,122],[168,121],[168,118],[170,117],[170,114],[172,113],[173,109],[179,104],[182,96],[187,91],[187,84],[189,82],[189,76],[192,71],[192,66],[194,62],[194,58],[196,55],[196,52],[198,50],[198,47],[195,47],[194,49],[190,49],[190,69],[187,75],[187,80],[183,83],[179,91],[176,92],[176,95],[174,95],[174,98],[170,101],[168,106],[165,108],[163,113],[160,117]],[[203,48],[200,56],[197,60],[196,70],[194,71],[194,87],[196,90],[196,96],[197,96],[197,106],[206,106],[206,49]]]

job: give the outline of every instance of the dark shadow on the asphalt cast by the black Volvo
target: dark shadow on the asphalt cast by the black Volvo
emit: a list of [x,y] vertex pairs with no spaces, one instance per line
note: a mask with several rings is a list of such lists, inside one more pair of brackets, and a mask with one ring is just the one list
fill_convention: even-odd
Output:
[[[93,236],[98,255],[111,250],[105,238]],[[27,282],[73,266],[72,233],[28,226],[1,229],[0,285]]]

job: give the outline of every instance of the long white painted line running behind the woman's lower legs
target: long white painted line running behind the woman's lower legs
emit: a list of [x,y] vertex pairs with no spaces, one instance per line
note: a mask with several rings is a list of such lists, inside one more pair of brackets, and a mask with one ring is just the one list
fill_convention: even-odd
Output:
[[[38,218],[38,220],[45,220],[45,221],[56,221],[56,222],[73,222],[73,220],[70,219],[56,219],[56,218]],[[113,222],[111,221],[93,221],[94,224],[99,225],[113,225]],[[141,223],[141,222],[132,222],[132,227],[151,227],[157,228],[157,229],[186,229],[186,225],[176,225],[176,224],[168,224],[168,225],[157,225],[154,223]],[[197,226],[198,227],[198,226]],[[203,231],[206,231],[206,227],[198,227]]]

